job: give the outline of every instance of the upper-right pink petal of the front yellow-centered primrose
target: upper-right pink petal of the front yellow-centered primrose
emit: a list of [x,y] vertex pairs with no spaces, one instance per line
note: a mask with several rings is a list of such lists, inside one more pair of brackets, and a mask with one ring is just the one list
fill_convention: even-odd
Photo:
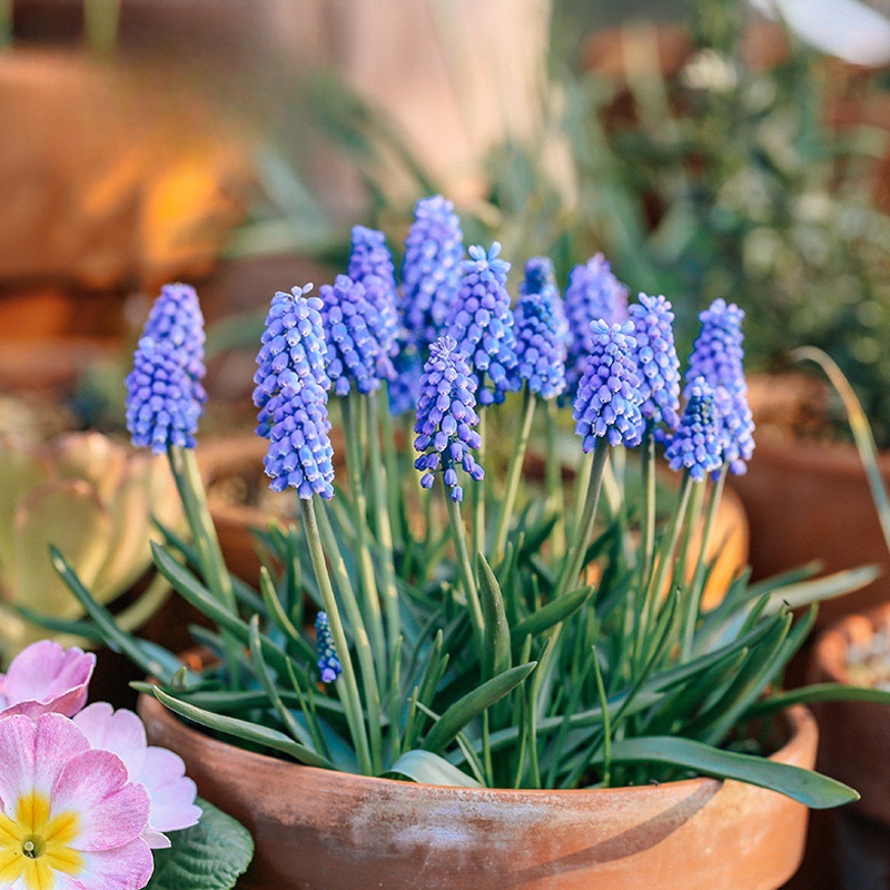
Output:
[[[73,725],[73,724],[72,724]],[[65,764],[52,790],[52,814],[73,810],[80,832],[76,850],[101,851],[138,838],[148,825],[150,800],[129,782],[123,761],[109,751],[83,751]]]

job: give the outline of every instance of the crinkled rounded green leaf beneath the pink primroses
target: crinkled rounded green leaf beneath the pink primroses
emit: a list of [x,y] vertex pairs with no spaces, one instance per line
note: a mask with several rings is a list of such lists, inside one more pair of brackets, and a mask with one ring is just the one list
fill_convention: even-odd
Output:
[[230,890],[254,858],[254,839],[240,822],[198,798],[197,825],[170,833],[171,847],[155,850],[146,890]]

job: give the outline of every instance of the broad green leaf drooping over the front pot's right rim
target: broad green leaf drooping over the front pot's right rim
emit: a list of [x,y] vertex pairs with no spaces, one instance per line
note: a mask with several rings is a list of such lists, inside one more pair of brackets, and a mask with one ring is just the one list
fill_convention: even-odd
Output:
[[[602,760],[602,754],[595,759]],[[778,791],[814,810],[825,810],[859,800],[852,788],[827,775],[777,763],[768,758],[723,751],[691,739],[651,735],[612,743],[612,763],[662,763],[716,779],[735,779]]]

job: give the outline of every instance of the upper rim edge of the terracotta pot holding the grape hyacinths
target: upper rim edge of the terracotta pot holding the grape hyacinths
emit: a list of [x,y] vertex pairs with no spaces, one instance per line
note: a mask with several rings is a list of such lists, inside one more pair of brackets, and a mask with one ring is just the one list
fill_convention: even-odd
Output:
[[[249,770],[250,764],[257,768],[268,769],[270,763],[277,764],[281,768],[291,768],[300,770],[303,774],[310,781],[332,781],[332,777],[338,777],[343,780],[348,780],[354,785],[365,788],[368,792],[380,790],[386,787],[389,788],[404,788],[411,787],[412,793],[432,794],[441,798],[443,793],[452,792],[455,797],[463,798],[467,794],[492,795],[495,794],[502,800],[512,799],[514,801],[537,801],[544,802],[547,799],[566,800],[571,798],[577,801],[580,798],[590,797],[591,801],[601,800],[606,802],[607,798],[624,798],[627,794],[665,794],[673,797],[678,792],[689,791],[692,792],[699,788],[719,787],[723,781],[711,777],[699,777],[695,779],[681,779],[675,782],[663,782],[661,784],[647,785],[627,785],[624,788],[582,788],[582,789],[514,789],[514,788],[466,788],[464,785],[432,785],[423,782],[411,782],[408,780],[399,779],[382,779],[373,775],[359,775],[356,773],[345,773],[333,770],[324,770],[318,767],[306,767],[301,763],[293,763],[277,758],[270,758],[266,754],[258,754],[255,751],[246,751],[236,745],[222,742],[219,739],[214,739],[210,735],[205,735],[191,726],[186,725],[176,714],[165,708],[157,699],[151,695],[141,693],[139,695],[138,710],[140,716],[167,724],[167,726],[176,726],[176,732],[190,738],[194,742],[208,745],[216,749],[220,754],[227,758],[237,756],[243,764]],[[815,718],[809,708],[802,704],[795,704],[782,712],[788,731],[788,741],[774,753],[770,754],[769,760],[780,763],[795,763],[803,759],[807,750],[814,749],[819,740],[819,730],[815,723]]]

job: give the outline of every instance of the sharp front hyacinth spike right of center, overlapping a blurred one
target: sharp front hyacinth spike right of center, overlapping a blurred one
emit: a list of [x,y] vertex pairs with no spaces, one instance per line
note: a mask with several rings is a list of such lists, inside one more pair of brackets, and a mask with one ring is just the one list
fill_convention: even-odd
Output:
[[631,324],[591,322],[591,354],[572,412],[584,452],[592,452],[597,438],[626,447],[640,444],[642,398],[632,330]]

